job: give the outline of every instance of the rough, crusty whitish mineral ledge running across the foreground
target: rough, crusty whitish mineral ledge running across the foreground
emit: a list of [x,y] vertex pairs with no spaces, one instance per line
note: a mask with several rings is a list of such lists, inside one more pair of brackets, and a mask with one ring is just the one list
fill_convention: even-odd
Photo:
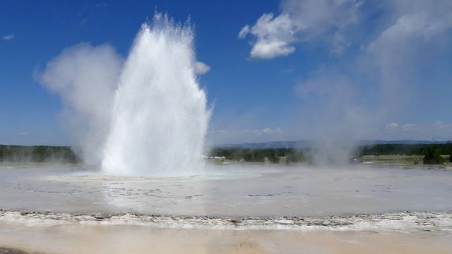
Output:
[[391,212],[328,217],[216,217],[138,213],[71,214],[0,210],[0,221],[47,224],[141,225],[199,229],[395,229],[452,231],[452,212]]

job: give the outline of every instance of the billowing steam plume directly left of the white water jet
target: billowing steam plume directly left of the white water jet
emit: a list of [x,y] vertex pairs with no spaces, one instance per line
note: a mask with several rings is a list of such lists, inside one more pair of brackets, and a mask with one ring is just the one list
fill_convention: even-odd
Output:
[[47,63],[37,79],[64,103],[63,123],[87,164],[99,164],[123,59],[108,44],[76,44]]

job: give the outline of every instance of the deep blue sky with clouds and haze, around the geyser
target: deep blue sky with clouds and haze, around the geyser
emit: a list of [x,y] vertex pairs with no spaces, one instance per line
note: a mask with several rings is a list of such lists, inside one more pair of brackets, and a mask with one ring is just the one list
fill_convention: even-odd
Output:
[[156,8],[195,25],[210,143],[449,140],[452,4],[433,2],[1,1],[0,143],[69,144],[33,73],[80,42],[126,58]]

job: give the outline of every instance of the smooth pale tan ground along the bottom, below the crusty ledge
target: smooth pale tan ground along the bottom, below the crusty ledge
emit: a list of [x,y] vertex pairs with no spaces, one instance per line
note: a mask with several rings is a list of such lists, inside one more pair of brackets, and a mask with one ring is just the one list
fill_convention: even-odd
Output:
[[67,254],[452,253],[452,234],[445,231],[158,229],[0,222],[0,246],[28,253]]

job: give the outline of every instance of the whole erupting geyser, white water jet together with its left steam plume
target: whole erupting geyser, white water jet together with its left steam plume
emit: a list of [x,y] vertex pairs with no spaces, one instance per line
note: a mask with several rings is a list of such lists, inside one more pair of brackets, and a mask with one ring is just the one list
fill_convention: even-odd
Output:
[[38,77],[62,97],[65,123],[85,162],[105,174],[196,174],[209,112],[197,82],[191,25],[156,13],[121,62],[109,45],[78,44]]

